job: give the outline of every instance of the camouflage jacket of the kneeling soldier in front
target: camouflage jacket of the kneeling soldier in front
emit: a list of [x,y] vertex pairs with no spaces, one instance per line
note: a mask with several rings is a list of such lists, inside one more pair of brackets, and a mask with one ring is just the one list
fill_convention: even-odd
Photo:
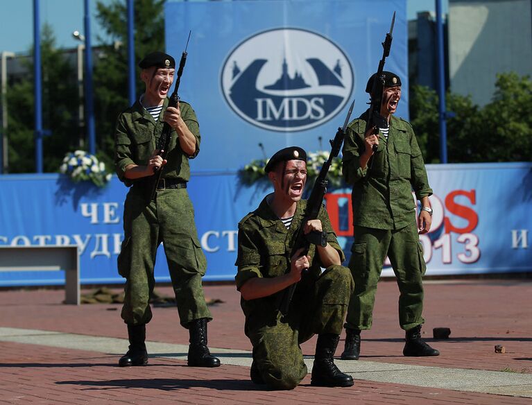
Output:
[[[266,197],[267,198],[267,197]],[[297,231],[304,218],[304,209],[307,207],[306,200],[300,200],[295,209],[295,214],[289,229],[274,214],[266,198],[259,207],[245,216],[239,222],[238,236],[238,266],[237,289],[253,277],[277,277],[284,275],[289,270],[290,255]],[[332,230],[329,215],[325,207],[320,209],[318,215],[322,228],[327,232],[329,245],[338,250],[341,261],[345,260],[343,251],[338,245],[336,234]],[[319,255],[315,256],[316,246],[311,245],[309,255],[311,267],[304,277],[317,278],[321,274]],[[282,291],[280,291],[282,293]],[[246,316],[246,329],[254,329],[256,325],[264,325],[264,318],[275,319],[277,316],[277,295],[270,295],[256,300],[241,300],[241,307]]]

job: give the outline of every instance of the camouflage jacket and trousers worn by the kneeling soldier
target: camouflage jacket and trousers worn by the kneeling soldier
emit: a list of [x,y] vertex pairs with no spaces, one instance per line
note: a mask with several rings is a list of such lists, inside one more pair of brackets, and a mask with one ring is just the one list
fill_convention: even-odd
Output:
[[[255,212],[239,223],[239,252],[235,277],[237,288],[253,277],[284,275],[291,266],[290,253],[295,236],[304,216],[307,201],[297,203],[291,227],[286,229],[273,213],[266,198]],[[327,241],[345,259],[336,241],[325,209],[318,216]],[[255,300],[241,299],[246,316],[244,331],[253,346],[253,359],[268,386],[291,389],[307,374],[300,343],[314,334],[336,334],[342,330],[345,311],[353,290],[349,269],[330,266],[321,273],[316,246],[311,245],[311,267],[303,275],[286,317],[277,310],[282,291]]]

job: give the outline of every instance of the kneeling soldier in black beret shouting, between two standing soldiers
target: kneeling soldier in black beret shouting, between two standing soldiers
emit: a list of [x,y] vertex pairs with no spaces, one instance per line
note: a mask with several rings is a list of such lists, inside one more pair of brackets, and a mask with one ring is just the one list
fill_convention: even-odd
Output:
[[[295,388],[307,374],[300,343],[318,334],[311,385],[352,386],[352,377],[336,368],[333,356],[353,281],[349,269],[341,266],[345,257],[325,208],[304,228],[305,233],[319,232],[323,244],[311,245],[307,255],[300,249],[290,257],[307,205],[301,200],[307,155],[302,148],[284,148],[265,170],[274,192],[239,223],[235,277],[245,333],[253,346],[251,379],[273,389]],[[294,283],[289,311],[282,316],[280,297]]]

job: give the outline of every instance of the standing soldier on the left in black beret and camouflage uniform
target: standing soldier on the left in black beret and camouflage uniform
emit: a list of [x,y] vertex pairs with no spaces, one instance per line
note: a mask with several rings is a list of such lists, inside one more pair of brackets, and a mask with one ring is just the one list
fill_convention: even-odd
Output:
[[[119,365],[148,363],[144,343],[146,324],[152,317],[148,301],[155,285],[157,246],[163,242],[180,322],[189,329],[188,364],[216,367],[220,361],[207,347],[207,322],[212,316],[201,285],[207,261],[187,193],[189,159],[198,155],[200,146],[198,119],[188,103],[168,107],[167,94],[175,72],[170,55],[150,53],[139,67],[146,91],[119,115],[114,135],[117,174],[131,187],[124,204],[124,241],[118,258],[119,273],[126,278],[121,316],[128,325],[130,346]],[[164,122],[172,128],[165,160],[156,148]],[[153,173],[160,168],[162,180],[151,200]]]

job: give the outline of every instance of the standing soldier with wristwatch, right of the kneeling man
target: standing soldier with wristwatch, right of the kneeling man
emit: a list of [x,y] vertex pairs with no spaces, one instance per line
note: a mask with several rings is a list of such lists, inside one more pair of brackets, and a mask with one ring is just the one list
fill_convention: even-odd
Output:
[[[420,333],[426,268],[418,233],[429,232],[431,226],[432,189],[412,126],[392,115],[401,98],[401,80],[391,72],[383,74],[381,116],[388,119],[388,133],[386,128],[378,135],[374,128],[366,129],[366,111],[347,127],[343,146],[343,175],[353,186],[354,243],[349,268],[355,286],[345,323],[341,356],[345,360],[359,358],[360,332],[371,328],[377,282],[386,255],[400,290],[399,322],[406,331],[404,356],[440,354],[422,341]],[[368,93],[373,80],[375,75],[368,80]],[[377,145],[375,153],[373,145]],[[417,229],[412,191],[422,205]]]

